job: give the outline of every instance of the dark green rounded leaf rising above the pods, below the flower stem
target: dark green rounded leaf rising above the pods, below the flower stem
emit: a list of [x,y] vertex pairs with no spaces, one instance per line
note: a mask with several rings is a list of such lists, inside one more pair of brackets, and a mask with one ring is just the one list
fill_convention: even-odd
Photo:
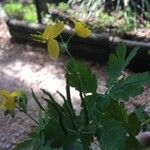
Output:
[[96,76],[84,64],[71,60],[67,65],[67,74],[71,87],[75,87],[76,90],[79,90],[79,84],[81,84],[82,92],[96,92]]

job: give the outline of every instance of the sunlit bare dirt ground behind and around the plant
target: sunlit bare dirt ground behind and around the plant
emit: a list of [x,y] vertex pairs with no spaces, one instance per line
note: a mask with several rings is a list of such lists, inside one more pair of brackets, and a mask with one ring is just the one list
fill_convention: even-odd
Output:
[[[29,97],[29,113],[37,115],[38,109],[31,97],[31,88],[39,95],[40,88],[45,88],[51,93],[57,90],[64,93],[64,71],[67,56],[61,56],[58,61],[52,61],[47,51],[29,45],[11,43],[8,29],[3,19],[0,19],[0,89],[10,91],[23,89]],[[93,62],[86,62],[98,77],[98,90],[105,91],[106,67]],[[128,71],[126,71],[128,73]],[[54,94],[55,95],[55,94]],[[73,96],[76,97],[75,92]],[[136,100],[136,101],[135,101]],[[150,103],[150,88],[146,87],[143,94],[129,102],[128,108],[135,105]],[[78,108],[78,101],[74,105]],[[17,112],[16,117],[4,117],[0,112],[0,150],[11,150],[15,144],[26,137],[34,123],[24,114]]]

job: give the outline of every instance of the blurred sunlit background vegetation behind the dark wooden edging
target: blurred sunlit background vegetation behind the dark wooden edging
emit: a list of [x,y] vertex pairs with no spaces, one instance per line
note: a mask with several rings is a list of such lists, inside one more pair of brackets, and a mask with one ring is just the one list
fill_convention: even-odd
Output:
[[[52,13],[57,12],[66,18],[87,22],[95,32],[120,33],[137,28],[150,28],[148,0],[47,0],[44,5],[48,6],[49,11],[47,13],[42,10],[43,23],[55,21]],[[11,18],[37,22],[32,0],[7,0],[4,8]]]

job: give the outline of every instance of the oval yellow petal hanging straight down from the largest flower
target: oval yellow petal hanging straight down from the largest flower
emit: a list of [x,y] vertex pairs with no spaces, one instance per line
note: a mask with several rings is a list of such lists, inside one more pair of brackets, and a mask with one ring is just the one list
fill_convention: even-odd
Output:
[[48,48],[48,53],[49,53],[50,58],[56,60],[59,56],[58,42],[55,39],[49,39],[47,48]]

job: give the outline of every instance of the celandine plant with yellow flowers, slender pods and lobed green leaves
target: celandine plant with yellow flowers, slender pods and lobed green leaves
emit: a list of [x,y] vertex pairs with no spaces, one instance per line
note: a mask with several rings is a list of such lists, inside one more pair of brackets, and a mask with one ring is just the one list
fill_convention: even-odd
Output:
[[[75,20],[73,22],[78,36],[86,38],[91,34],[84,23]],[[43,33],[32,36],[36,41],[47,44],[49,56],[55,60],[59,56],[59,43],[55,38],[63,30],[64,23],[58,22],[47,25]],[[47,104],[43,106],[32,90],[33,99],[40,108],[38,120],[27,113],[27,97],[24,92],[1,91],[1,107],[5,109],[6,115],[14,117],[15,109],[19,109],[36,123],[29,139],[19,144],[16,150],[88,150],[92,149],[92,142],[101,150],[146,149],[137,140],[137,135],[149,120],[144,122],[137,110],[128,114],[125,108],[129,97],[142,93],[143,86],[150,83],[149,72],[130,76],[122,74],[137,51],[135,48],[127,56],[126,46],[119,44],[108,60],[107,90],[100,94],[97,92],[95,74],[83,63],[75,60],[66,49],[70,55],[65,69],[66,97],[57,91],[64,103],[59,105],[46,89],[41,89],[41,99]],[[78,91],[81,100],[82,109],[78,115],[73,108],[71,87]]]

